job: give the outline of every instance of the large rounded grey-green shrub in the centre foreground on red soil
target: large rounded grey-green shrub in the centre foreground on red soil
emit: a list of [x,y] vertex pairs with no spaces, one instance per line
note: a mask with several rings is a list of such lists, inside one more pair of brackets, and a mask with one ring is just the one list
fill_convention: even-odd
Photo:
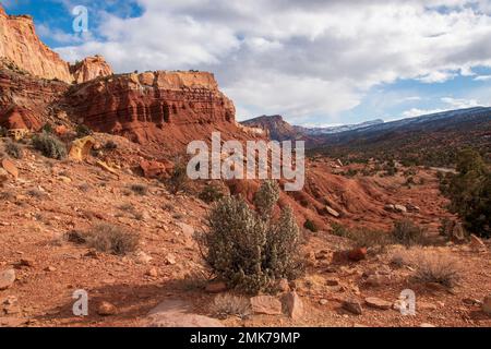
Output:
[[[271,213],[278,196],[277,185],[265,182],[256,205]],[[226,196],[212,209],[208,225],[209,230],[197,237],[200,246],[214,274],[230,287],[258,293],[301,272],[299,228],[291,209],[273,219],[264,210],[252,210],[242,198]]]

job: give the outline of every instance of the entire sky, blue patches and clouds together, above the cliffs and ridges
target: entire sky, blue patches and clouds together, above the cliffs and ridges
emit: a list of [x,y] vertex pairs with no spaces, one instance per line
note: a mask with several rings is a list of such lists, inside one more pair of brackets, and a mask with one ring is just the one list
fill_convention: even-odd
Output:
[[[239,120],[304,125],[491,105],[489,0],[10,0],[67,60],[216,74]],[[352,2],[356,2],[354,5]],[[73,33],[75,5],[89,32]]]

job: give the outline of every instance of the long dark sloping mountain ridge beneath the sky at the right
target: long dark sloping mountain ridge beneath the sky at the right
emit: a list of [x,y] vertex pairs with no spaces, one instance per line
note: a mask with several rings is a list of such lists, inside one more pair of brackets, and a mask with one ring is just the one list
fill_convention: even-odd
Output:
[[454,166],[455,155],[472,147],[491,161],[491,108],[450,110],[323,135],[313,147],[313,153],[331,157],[439,167]]

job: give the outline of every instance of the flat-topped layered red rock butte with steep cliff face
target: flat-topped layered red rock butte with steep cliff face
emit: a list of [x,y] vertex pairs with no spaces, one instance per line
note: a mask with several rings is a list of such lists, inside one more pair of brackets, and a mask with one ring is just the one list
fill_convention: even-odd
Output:
[[206,72],[96,79],[72,88],[65,104],[76,122],[141,144],[182,148],[194,140],[207,141],[213,131],[228,133],[230,139],[246,134],[237,127],[232,101]]

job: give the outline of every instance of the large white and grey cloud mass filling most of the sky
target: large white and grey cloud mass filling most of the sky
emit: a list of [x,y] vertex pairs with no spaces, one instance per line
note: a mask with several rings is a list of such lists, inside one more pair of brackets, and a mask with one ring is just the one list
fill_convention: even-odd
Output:
[[120,72],[213,71],[243,117],[326,115],[336,123],[375,85],[445,82],[491,67],[489,1],[137,2],[137,19],[97,21],[105,43],[58,51],[70,60],[101,53]]

